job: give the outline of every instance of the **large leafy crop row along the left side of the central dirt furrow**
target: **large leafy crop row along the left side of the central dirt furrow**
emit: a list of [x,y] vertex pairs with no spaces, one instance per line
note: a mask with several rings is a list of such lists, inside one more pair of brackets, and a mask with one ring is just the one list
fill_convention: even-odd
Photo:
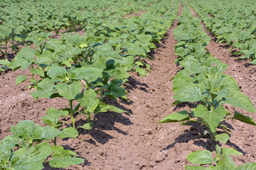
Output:
[[[150,67],[143,58],[164,36],[177,11],[178,1],[160,1],[140,17],[91,21],[94,27],[88,27],[82,36],[50,39],[45,32],[29,36],[33,48],[23,47],[13,61],[4,60],[5,65],[30,69],[31,74],[19,75],[16,84],[29,79],[29,87],[35,89],[33,98],[65,98],[69,106],[48,109],[42,118],[44,127],[31,120],[11,126],[14,135],[0,142],[0,168],[35,170],[46,163],[60,168],[84,162],[75,152],[58,146],[58,139],[78,137],[78,128],[90,130],[97,113],[125,112],[105,103],[104,98],[128,100],[122,87],[128,72],[147,74],[144,67]],[[80,116],[87,122],[78,126]]]

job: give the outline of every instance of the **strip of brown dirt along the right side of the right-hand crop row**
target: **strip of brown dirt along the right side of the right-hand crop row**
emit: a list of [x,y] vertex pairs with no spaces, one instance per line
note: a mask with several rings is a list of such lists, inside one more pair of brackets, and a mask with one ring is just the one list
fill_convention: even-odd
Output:
[[[193,8],[191,8],[191,12],[194,17],[198,17],[197,13],[193,11]],[[228,47],[225,46],[225,43],[215,42],[215,37],[208,32],[203,22],[201,22],[201,25],[203,26],[203,31],[211,38],[209,45],[206,46],[210,54],[218,58],[221,62],[228,64],[225,74],[230,75],[238,82],[242,93],[248,96],[256,107],[256,67],[248,64],[249,61],[247,60],[238,60],[238,57],[234,57],[232,52],[228,50]],[[225,108],[231,111],[231,113],[238,111],[245,115],[250,115],[256,120],[255,113],[248,113],[230,105],[226,105]],[[234,157],[235,163],[240,165],[247,162],[256,162],[256,149],[254,147],[256,145],[256,128],[252,125],[241,123],[238,120],[228,120],[226,122],[232,125],[233,132],[230,133],[230,141],[227,145],[223,145],[223,147],[233,147],[244,153],[240,157]]]

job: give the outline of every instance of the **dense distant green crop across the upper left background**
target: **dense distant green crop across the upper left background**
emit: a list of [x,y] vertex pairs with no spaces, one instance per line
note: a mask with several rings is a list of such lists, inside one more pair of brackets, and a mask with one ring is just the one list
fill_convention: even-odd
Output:
[[[38,33],[49,37],[84,29],[88,33],[104,34],[106,27],[127,21],[130,23],[129,18],[124,17],[130,13],[142,10],[154,13],[154,6],[158,13],[164,13],[169,9],[170,1],[129,1],[129,4],[127,1],[107,1],[104,4],[99,1],[8,1],[2,2],[0,6],[3,7],[0,10],[0,50],[7,55],[9,45],[11,53],[18,51],[21,45],[33,42],[31,39]],[[46,34],[49,31],[54,33]]]

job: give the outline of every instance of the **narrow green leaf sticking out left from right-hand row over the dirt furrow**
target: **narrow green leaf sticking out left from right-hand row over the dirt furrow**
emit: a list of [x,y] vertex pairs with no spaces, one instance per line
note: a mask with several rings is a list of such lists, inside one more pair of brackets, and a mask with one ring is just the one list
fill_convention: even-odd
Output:
[[173,123],[182,122],[189,120],[189,115],[187,111],[180,111],[178,113],[171,113],[167,115],[164,119],[160,120],[159,123]]

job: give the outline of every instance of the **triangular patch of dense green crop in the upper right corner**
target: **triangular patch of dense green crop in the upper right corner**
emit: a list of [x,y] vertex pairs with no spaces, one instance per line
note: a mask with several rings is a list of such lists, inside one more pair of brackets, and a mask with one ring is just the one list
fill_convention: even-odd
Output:
[[256,21],[255,3],[252,1],[194,1],[189,4],[206,24],[206,28],[216,35],[219,42],[238,48],[234,54],[240,59],[252,60],[256,64]]

